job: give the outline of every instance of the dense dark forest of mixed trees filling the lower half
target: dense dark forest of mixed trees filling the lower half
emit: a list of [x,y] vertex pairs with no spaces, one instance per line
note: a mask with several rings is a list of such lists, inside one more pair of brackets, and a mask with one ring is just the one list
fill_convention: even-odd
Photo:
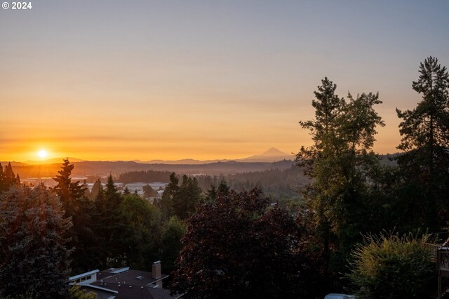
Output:
[[391,161],[372,150],[379,93],[340,98],[325,78],[314,118],[300,121],[313,145],[295,166],[119,177],[168,182],[154,202],[120,192],[112,175],[93,196],[68,159],[52,188],[21,185],[0,166],[0,298],[76,297],[69,274],[150,270],[154,260],[183,298],[435,298],[427,244],[448,232],[449,76],[433,57],[419,73],[422,100],[396,109],[401,153]]

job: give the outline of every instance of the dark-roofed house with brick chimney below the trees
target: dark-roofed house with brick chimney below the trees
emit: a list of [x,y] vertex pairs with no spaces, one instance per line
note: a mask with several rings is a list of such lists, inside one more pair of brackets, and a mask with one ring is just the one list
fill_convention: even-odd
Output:
[[170,295],[162,288],[161,262],[153,263],[152,272],[130,270],[129,267],[93,270],[69,278],[69,284],[82,290],[95,292],[98,299],[175,299],[181,295]]

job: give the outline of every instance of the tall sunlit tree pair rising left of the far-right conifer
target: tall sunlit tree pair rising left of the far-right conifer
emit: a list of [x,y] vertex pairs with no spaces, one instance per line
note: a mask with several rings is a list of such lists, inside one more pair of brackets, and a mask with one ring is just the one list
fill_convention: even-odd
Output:
[[[380,104],[378,94],[362,93],[348,100],[335,94],[337,86],[325,78],[315,91],[315,119],[300,121],[310,131],[314,145],[301,147],[297,166],[311,178],[300,192],[323,243],[323,260],[330,263],[330,248],[337,246],[344,263],[359,232],[370,224],[366,198],[370,168],[378,157],[371,147],[376,126],[384,126],[373,106]],[[300,217],[302,215],[300,214]],[[369,228],[369,227],[368,227]],[[341,267],[337,265],[336,267]]]

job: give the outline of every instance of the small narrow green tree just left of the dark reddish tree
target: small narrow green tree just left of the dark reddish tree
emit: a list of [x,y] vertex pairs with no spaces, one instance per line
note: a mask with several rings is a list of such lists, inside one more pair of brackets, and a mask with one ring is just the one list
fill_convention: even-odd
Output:
[[163,271],[175,270],[175,260],[180,253],[181,238],[185,235],[185,223],[176,217],[170,217],[162,227],[161,260]]

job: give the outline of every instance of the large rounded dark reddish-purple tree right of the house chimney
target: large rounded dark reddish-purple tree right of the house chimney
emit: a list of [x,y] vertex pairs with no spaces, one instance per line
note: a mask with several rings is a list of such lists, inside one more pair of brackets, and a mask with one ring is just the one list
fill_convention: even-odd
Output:
[[260,191],[199,205],[170,289],[185,298],[298,298],[302,271],[293,218]]

